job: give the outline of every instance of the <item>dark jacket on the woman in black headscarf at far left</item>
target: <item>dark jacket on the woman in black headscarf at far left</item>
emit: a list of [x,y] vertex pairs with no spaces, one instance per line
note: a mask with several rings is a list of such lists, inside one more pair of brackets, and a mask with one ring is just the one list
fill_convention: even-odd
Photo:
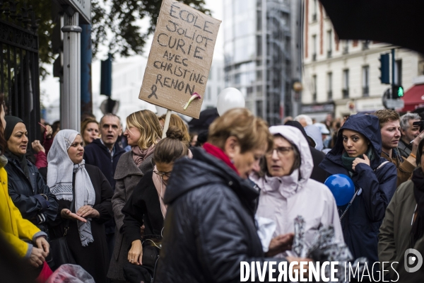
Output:
[[[29,179],[16,158],[8,157],[8,163],[4,168],[8,177],[8,193],[23,218],[33,224],[54,221],[57,215],[57,199],[50,192],[37,167],[28,161]],[[40,194],[46,195],[48,200],[46,201]]]

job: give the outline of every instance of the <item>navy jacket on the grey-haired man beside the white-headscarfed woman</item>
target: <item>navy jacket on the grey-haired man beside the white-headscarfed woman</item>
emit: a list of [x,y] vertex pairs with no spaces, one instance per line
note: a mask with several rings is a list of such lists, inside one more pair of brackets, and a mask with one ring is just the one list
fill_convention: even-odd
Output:
[[87,164],[98,166],[103,175],[107,178],[110,186],[114,190],[115,180],[113,178],[114,171],[117,168],[119,158],[125,153],[124,149],[116,142],[114,144],[114,155],[111,158],[109,149],[102,144],[100,139],[95,139],[91,144],[84,148],[84,160]]

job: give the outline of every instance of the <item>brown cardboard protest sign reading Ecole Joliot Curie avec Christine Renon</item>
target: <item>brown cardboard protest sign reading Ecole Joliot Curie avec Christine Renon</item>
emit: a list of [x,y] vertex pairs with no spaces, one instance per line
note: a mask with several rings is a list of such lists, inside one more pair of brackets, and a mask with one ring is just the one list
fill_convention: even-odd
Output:
[[[199,118],[221,21],[163,0],[139,98]],[[186,110],[184,105],[199,93]]]

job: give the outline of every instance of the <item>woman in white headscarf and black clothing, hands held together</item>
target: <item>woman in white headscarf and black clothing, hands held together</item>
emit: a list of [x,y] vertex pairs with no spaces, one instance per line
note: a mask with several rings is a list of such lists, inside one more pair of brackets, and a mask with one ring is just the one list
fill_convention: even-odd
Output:
[[[52,238],[64,236],[77,265],[95,282],[106,282],[109,266],[105,221],[112,218],[112,187],[96,166],[83,160],[81,134],[64,129],[54,137],[47,159],[47,185],[56,195],[59,209]],[[74,205],[71,206],[73,195]]]

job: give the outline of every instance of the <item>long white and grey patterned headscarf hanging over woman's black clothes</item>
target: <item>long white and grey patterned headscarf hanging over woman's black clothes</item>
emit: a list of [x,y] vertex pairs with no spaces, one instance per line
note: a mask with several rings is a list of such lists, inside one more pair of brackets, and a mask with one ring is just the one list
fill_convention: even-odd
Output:
[[[56,195],[57,200],[72,202],[72,179],[75,173],[75,212],[84,205],[93,207],[95,203],[95,191],[86,171],[86,161],[74,164],[68,155],[68,149],[78,134],[73,129],[59,131],[54,137],[52,148],[47,156],[49,162],[47,185]],[[72,207],[70,209],[72,210]],[[91,233],[91,219],[87,219],[86,223],[77,221],[77,224],[81,245],[88,246],[94,241]]]

